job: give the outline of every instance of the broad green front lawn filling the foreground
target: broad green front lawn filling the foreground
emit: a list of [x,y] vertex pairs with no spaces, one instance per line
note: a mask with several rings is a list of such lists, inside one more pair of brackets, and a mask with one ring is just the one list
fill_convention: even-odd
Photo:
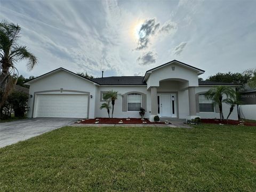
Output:
[[62,127],[0,149],[1,191],[255,191],[256,127]]

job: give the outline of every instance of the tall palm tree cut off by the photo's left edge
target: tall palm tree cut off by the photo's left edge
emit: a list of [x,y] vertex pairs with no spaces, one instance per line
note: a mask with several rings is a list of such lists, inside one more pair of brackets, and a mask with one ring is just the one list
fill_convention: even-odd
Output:
[[14,74],[18,74],[15,64],[23,59],[27,59],[27,68],[31,70],[37,63],[35,55],[28,51],[26,46],[20,46],[17,43],[19,38],[19,25],[7,21],[0,23],[0,91],[2,92],[0,107],[3,106],[17,83],[18,78],[14,80]]

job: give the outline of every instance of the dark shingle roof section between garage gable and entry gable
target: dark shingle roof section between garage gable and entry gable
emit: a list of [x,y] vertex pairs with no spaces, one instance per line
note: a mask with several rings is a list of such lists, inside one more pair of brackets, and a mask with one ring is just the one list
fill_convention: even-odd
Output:
[[100,85],[147,85],[142,82],[143,76],[114,76],[93,78]]

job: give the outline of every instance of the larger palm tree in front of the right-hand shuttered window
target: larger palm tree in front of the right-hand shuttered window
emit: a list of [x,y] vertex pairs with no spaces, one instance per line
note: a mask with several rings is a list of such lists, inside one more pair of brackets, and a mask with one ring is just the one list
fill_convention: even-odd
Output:
[[226,99],[235,99],[235,91],[227,86],[217,86],[211,88],[209,91],[205,93],[205,97],[207,99],[212,99],[215,105],[219,106],[220,109],[220,121],[224,119],[222,113],[222,102],[223,97],[226,96]]

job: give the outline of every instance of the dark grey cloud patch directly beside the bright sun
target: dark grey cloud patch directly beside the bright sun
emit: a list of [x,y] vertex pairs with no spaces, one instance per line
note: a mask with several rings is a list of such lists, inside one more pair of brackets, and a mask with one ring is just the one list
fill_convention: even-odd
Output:
[[158,30],[160,23],[156,19],[146,20],[139,30],[139,41],[136,50],[142,50],[148,47],[150,36],[154,35]]

